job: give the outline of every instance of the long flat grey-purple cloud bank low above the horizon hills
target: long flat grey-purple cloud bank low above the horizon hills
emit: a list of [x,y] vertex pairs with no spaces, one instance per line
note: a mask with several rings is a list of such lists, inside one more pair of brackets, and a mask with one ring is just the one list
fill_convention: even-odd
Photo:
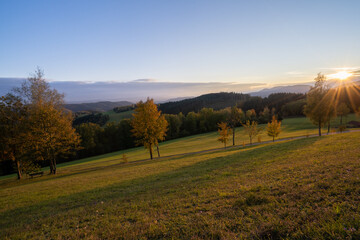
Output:
[[[11,87],[20,85],[24,79],[0,78],[0,94]],[[198,96],[212,92],[249,92],[260,89],[263,83],[242,84],[236,82],[158,82],[153,79],[140,79],[129,82],[61,82],[53,81],[50,85],[65,93],[67,102],[95,101],[138,101],[147,97],[156,101],[178,97]],[[6,88],[3,86],[7,86]]]

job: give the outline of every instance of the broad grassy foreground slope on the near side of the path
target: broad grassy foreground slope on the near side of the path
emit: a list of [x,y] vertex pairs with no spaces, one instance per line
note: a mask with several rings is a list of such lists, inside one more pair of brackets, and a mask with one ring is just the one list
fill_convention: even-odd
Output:
[[359,239],[360,133],[0,182],[0,239]]

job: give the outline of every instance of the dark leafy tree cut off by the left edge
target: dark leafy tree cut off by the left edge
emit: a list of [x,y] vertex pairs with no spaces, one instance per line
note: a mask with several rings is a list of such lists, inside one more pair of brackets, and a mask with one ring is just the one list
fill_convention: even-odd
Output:
[[22,178],[24,155],[29,144],[27,107],[21,99],[7,94],[0,99],[0,160],[10,159]]

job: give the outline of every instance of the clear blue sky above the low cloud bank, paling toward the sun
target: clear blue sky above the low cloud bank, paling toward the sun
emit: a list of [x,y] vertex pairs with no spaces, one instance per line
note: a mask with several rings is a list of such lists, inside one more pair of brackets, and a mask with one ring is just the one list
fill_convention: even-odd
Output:
[[311,81],[360,66],[360,1],[0,1],[0,77]]

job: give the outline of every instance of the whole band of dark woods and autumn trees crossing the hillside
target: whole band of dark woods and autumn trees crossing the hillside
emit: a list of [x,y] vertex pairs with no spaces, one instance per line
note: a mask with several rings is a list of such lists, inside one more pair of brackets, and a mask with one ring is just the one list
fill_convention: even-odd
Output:
[[[232,96],[234,102],[237,99],[247,100],[219,110],[205,107],[186,114],[161,114],[154,101],[147,99],[136,104],[132,119],[102,127],[79,119],[74,121],[73,114],[64,108],[64,96],[50,89],[43,72],[38,69],[20,88],[0,100],[0,130],[3,133],[0,136],[1,169],[4,174],[8,173],[10,165],[15,166],[19,179],[23,173],[36,171],[45,165],[50,166],[51,174],[55,174],[59,161],[138,145],[148,149],[152,159],[153,149],[160,157],[161,141],[216,130],[220,134],[218,140],[225,146],[230,135],[235,145],[235,128],[239,126],[244,127],[252,143],[253,137],[261,130],[257,126],[262,123],[268,123],[268,135],[274,140],[281,131],[281,115],[285,112],[289,115],[305,113],[319,127],[321,135],[321,128],[326,124],[330,129],[332,118],[357,110],[360,106],[359,93],[356,87],[330,88],[325,76],[318,74],[315,86],[307,95],[283,93],[263,99],[230,93],[225,95]],[[102,120],[97,115],[88,118]]]

